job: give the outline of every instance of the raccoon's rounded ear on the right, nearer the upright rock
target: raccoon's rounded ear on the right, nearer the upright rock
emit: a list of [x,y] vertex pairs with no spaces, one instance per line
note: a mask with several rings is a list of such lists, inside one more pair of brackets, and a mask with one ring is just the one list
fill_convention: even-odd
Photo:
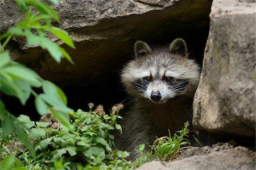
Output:
[[175,39],[169,48],[169,52],[175,55],[187,56],[187,45],[183,39]]

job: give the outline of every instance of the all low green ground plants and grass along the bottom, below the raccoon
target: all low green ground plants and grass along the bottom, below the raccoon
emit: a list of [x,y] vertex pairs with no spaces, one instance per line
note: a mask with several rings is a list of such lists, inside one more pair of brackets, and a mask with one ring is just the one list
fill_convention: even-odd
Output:
[[[121,118],[118,113],[119,109],[113,110],[109,115],[105,114],[101,105],[95,111],[92,111],[92,107],[88,112],[72,111],[69,113],[71,131],[60,122],[50,125],[47,122],[34,122],[26,115],[20,115],[18,120],[35,145],[38,156],[34,159],[29,151],[16,151],[14,152],[17,155],[15,160],[7,157],[2,164],[7,164],[13,169],[21,167],[24,169],[131,170],[153,159],[170,160],[181,147],[189,144],[188,140],[184,139],[189,131],[188,123],[185,123],[184,128],[174,136],[169,134],[169,137],[157,138],[148,152],[145,151],[145,145],[141,144],[137,150],[137,159],[126,160],[129,153],[114,150],[114,136],[111,134],[112,130],[122,131],[122,128],[116,126],[117,119]],[[14,143],[11,136],[15,135],[9,135],[8,143]],[[0,150],[6,152],[6,148],[0,148]],[[9,151],[6,153],[11,154]]]

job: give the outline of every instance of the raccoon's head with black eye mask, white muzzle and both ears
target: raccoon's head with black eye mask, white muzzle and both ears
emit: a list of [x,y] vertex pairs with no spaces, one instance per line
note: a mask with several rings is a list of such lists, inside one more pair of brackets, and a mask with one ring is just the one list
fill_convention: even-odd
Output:
[[154,103],[193,94],[199,81],[199,67],[188,59],[187,45],[175,39],[168,49],[151,49],[146,43],[134,44],[135,59],[122,71],[122,82],[129,94]]

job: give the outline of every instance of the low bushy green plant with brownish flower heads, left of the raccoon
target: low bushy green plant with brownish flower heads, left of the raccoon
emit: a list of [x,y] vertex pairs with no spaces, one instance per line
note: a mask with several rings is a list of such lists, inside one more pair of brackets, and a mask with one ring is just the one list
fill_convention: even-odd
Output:
[[123,106],[115,106],[117,110],[113,109],[110,115],[105,114],[102,105],[94,111],[92,103],[89,107],[88,112],[79,109],[69,113],[70,128],[58,121],[52,124],[34,122],[20,115],[17,119],[34,144],[37,155],[33,159],[30,152],[17,153],[20,164],[28,169],[72,169],[86,165],[93,168],[106,164],[106,160],[113,157],[114,136],[110,131],[122,131],[117,119],[121,118],[118,113]]

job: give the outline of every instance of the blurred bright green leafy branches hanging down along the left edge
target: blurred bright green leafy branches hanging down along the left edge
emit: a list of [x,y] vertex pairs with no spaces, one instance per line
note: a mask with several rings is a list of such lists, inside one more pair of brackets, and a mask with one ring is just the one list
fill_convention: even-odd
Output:
[[[58,0],[52,0],[57,5]],[[5,40],[0,48],[0,89],[2,93],[9,96],[17,97],[22,105],[25,105],[27,99],[32,95],[35,96],[36,110],[40,115],[46,114],[47,109],[55,106],[58,110],[53,110],[52,114],[59,118],[65,126],[70,128],[68,120],[67,98],[63,91],[52,82],[43,80],[36,72],[11,60],[9,51],[4,51],[7,43],[13,36],[23,36],[27,39],[27,45],[40,45],[46,49],[49,54],[60,63],[61,58],[65,57],[71,63],[71,57],[57,43],[47,38],[48,34],[53,34],[69,47],[75,48],[68,33],[51,25],[51,20],[59,22],[59,18],[54,10],[46,3],[39,0],[16,0],[21,11],[25,11],[26,18],[23,22],[9,28],[7,32],[0,36],[0,40]],[[43,93],[37,94],[33,88],[42,88]],[[5,109],[5,104],[0,100],[0,120],[3,131],[3,137],[7,137],[14,129],[18,138],[35,155],[34,147],[27,138],[26,133],[16,117]]]

